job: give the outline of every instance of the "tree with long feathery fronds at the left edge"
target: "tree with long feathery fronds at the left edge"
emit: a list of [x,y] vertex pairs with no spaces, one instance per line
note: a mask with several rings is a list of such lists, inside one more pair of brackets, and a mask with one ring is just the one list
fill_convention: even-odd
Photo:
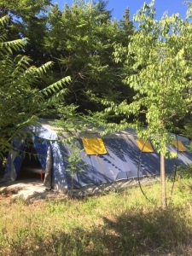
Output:
[[11,148],[14,137],[23,137],[26,127],[59,103],[70,80],[67,77],[44,90],[33,89],[32,84],[38,84],[52,63],[34,67],[26,55],[13,55],[13,51],[25,49],[27,39],[7,41],[4,26],[8,20],[8,16],[0,19],[0,157]]

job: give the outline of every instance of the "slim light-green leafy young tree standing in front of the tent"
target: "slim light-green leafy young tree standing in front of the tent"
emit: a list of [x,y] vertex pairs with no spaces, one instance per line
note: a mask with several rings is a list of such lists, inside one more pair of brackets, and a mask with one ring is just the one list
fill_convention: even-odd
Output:
[[[130,125],[126,119],[134,115],[133,126],[138,136],[150,138],[160,153],[160,177],[162,184],[162,207],[166,207],[166,184],[164,157],[167,143],[172,138],[169,131],[175,131],[180,119],[189,112],[191,105],[191,26],[179,19],[178,15],[154,20],[154,1],[144,3],[134,16],[137,31],[131,37],[126,63],[132,70],[124,80],[136,92],[134,101],[119,105],[105,102],[106,112],[124,114],[125,120],[117,127]],[[116,45],[116,61],[125,55],[126,49]],[[142,67],[142,68],[141,68]],[[141,68],[140,72],[138,68]],[[145,119],[142,121],[141,116]],[[143,126],[147,126],[143,130]]]

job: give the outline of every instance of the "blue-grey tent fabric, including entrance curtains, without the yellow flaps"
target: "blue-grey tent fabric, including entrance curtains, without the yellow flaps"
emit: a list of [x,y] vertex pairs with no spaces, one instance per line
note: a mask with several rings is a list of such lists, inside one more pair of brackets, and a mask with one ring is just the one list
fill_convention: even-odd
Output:
[[[134,131],[125,131],[103,137],[107,154],[101,155],[87,155],[84,152],[81,137],[74,139],[73,143],[77,143],[80,149],[81,160],[77,166],[78,173],[74,173],[73,178],[69,172],[68,162],[68,158],[72,154],[70,143],[61,143],[55,132],[52,133],[46,127],[35,127],[33,133],[36,134],[32,140],[38,159],[44,170],[49,169],[49,177],[51,177],[51,185],[54,189],[81,189],[90,185],[129,180],[137,178],[138,175],[139,177],[160,175],[160,154],[155,151],[154,153],[141,154],[137,147],[137,136]],[[189,142],[185,140],[184,143]],[[15,144],[15,148],[20,150],[20,145]],[[169,146],[168,149],[177,154],[176,148]],[[51,163],[52,166],[47,166],[47,159],[50,160],[49,165]],[[138,162],[140,162],[139,169]],[[11,161],[8,160],[7,172],[10,172],[9,163]],[[22,156],[16,156],[14,165],[17,172],[20,171],[21,163]],[[173,172],[176,163],[177,166],[192,164],[192,154],[183,152],[178,154],[177,160],[166,160],[166,173]]]

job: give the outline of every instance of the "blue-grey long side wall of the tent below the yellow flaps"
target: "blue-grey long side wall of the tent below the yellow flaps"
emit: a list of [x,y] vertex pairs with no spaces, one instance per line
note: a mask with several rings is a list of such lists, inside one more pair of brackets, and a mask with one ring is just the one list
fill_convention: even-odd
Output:
[[[83,160],[87,164],[84,172],[79,174],[82,185],[113,183],[123,179],[137,178],[160,174],[160,155],[155,153],[141,154],[139,173],[138,161],[140,151],[135,143],[127,138],[103,138],[108,154],[86,155]],[[83,147],[82,147],[83,148]],[[173,172],[176,160],[166,160],[166,172]],[[182,160],[178,165],[185,164]]]

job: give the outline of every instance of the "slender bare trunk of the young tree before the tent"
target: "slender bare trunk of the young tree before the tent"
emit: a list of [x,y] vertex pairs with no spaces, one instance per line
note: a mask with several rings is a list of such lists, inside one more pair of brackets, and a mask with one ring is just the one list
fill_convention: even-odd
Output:
[[165,172],[165,157],[160,154],[160,182],[161,182],[161,204],[162,208],[166,209],[166,172]]

